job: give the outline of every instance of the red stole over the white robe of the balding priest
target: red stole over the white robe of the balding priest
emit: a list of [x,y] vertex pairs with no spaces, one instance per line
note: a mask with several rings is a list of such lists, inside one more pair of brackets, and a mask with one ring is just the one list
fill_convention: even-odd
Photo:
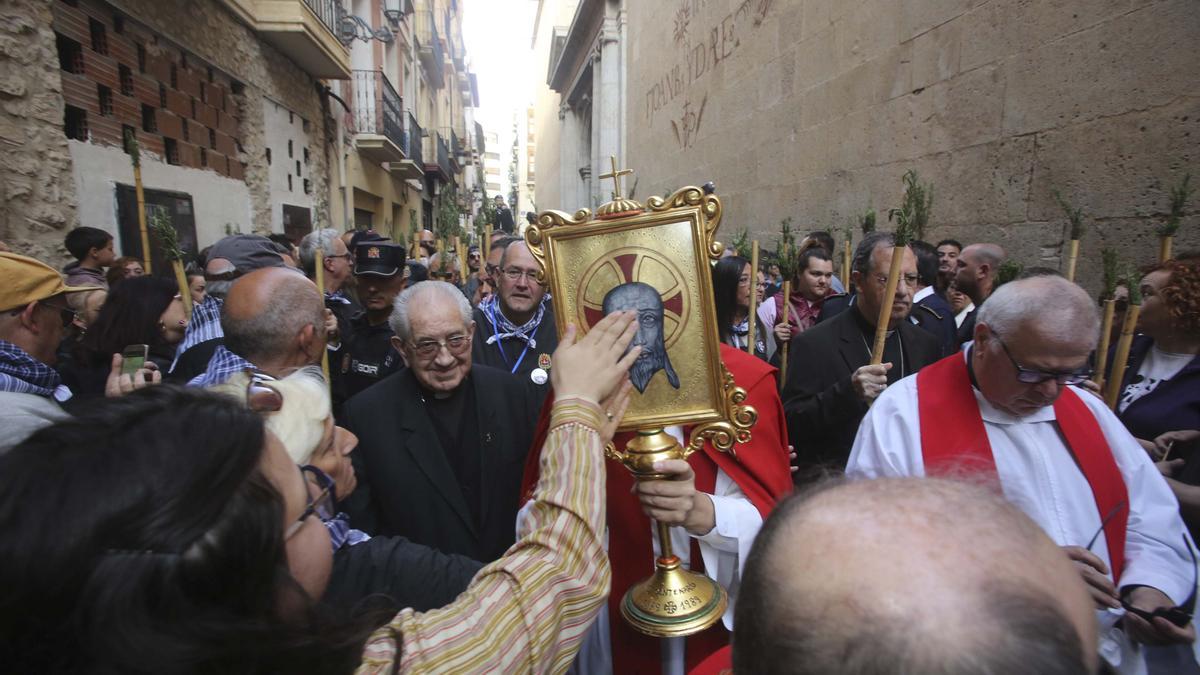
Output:
[[[926,476],[964,472],[997,476],[996,459],[961,353],[946,357],[917,374],[917,408]],[[1054,412],[1067,448],[1092,488],[1100,519],[1106,519],[1104,540],[1109,546],[1112,579],[1120,583],[1129,520],[1124,478],[1096,417],[1074,392],[1063,388]]]

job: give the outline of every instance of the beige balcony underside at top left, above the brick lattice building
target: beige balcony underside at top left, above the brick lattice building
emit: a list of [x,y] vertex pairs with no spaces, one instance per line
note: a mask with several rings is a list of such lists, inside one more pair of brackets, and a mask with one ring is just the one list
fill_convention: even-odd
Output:
[[222,0],[268,44],[316,78],[349,79],[350,53],[337,40],[342,0]]

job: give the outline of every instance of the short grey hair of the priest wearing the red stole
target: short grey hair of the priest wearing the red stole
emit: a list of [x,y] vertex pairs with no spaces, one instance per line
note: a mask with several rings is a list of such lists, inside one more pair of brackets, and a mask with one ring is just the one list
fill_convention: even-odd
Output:
[[1022,329],[1057,342],[1086,340],[1094,350],[1100,333],[1096,303],[1079,285],[1061,276],[1034,276],[997,288],[976,317],[1001,338]]

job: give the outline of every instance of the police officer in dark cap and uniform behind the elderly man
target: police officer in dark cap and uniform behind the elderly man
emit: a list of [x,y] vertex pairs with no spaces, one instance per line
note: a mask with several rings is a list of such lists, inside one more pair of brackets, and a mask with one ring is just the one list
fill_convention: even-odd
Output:
[[343,341],[341,376],[346,398],[350,398],[403,365],[391,346],[388,324],[392,301],[404,289],[408,265],[404,247],[391,241],[365,241],[354,249],[354,279],[364,313],[352,322]]

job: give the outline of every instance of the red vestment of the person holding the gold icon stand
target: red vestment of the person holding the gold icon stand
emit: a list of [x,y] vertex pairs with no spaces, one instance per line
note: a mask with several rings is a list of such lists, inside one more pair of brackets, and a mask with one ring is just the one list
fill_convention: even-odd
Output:
[[[775,369],[727,345],[721,345],[721,360],[733,374],[734,382],[746,389],[745,402],[758,411],[758,422],[750,430],[750,442],[734,446],[737,456],[719,452],[710,443],[704,443],[703,452],[692,453],[688,462],[696,472],[697,490],[712,494],[716,486],[716,470],[720,468],[742,488],[746,498],[766,519],[776,500],[792,489],[787,458],[787,425],[784,420],[784,406],[775,389]],[[553,394],[546,398],[534,434],[534,444],[526,456],[523,500],[529,498],[538,483],[541,443],[548,431],[552,407]],[[632,436],[629,432],[618,434],[613,443],[623,447]],[[605,461],[605,473],[607,474],[608,560],[612,562],[612,592],[608,596],[612,671],[622,675],[658,674],[662,670],[662,640],[634,631],[620,616],[620,602],[625,591],[654,572],[650,519],[642,513],[637,497],[630,494],[634,486],[632,474],[612,460]],[[690,567],[696,572],[704,569],[704,561],[695,539],[691,542]],[[685,668],[691,670],[728,643],[730,633],[720,621],[707,631],[690,635],[686,641]]]

